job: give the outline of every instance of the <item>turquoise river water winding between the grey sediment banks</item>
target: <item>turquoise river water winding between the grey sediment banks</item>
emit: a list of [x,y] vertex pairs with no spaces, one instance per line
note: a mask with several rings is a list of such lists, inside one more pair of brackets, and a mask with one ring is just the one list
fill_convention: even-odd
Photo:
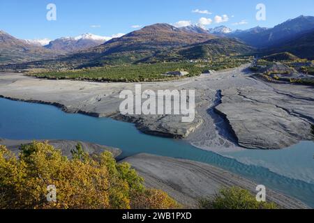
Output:
[[[82,140],[121,148],[124,152],[120,158],[137,153],[151,153],[205,162],[251,178],[256,183],[266,185],[273,190],[289,194],[314,208],[314,183],[311,180],[307,182],[306,180],[287,177],[289,169],[286,170],[287,173],[276,174],[275,171],[270,171],[271,168],[265,168],[267,167],[265,163],[271,163],[275,166],[277,163],[278,167],[281,167],[278,159],[282,158],[285,150],[277,152],[278,154],[269,153],[269,151],[242,151],[227,153],[226,155],[231,157],[225,157],[200,150],[184,141],[142,134],[130,123],[114,121],[110,118],[94,118],[82,114],[66,114],[49,105],[15,102],[3,98],[0,98],[0,137],[6,139]],[[313,142],[306,142],[306,144],[306,149],[313,151]],[[297,150],[298,146],[294,146],[291,150]],[[294,157],[299,157],[297,153],[294,153]],[[286,156],[290,157],[290,155],[287,153]],[[313,155],[314,153],[311,155],[312,158]],[[277,161],[274,156],[277,157]],[[250,163],[254,163],[254,159],[260,160],[257,162],[260,166]],[[302,162],[314,162],[314,160],[302,159],[304,156],[301,157],[301,160],[292,162],[291,160],[294,158],[291,158],[287,167],[295,169],[299,168],[299,164]],[[313,167],[311,163],[307,164],[306,167],[309,168],[307,171],[314,172],[314,169],[311,169]],[[292,173],[291,176],[295,176],[295,174]]]

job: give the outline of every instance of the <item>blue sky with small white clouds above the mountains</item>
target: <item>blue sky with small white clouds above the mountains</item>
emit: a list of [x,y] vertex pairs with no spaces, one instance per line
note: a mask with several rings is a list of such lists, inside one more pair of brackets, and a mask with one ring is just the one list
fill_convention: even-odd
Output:
[[[57,20],[47,20],[47,5]],[[256,6],[266,7],[266,20],[256,19]],[[16,38],[51,40],[94,33],[114,36],[165,22],[202,24],[207,29],[273,27],[299,15],[314,15],[313,0],[0,0],[0,30]]]

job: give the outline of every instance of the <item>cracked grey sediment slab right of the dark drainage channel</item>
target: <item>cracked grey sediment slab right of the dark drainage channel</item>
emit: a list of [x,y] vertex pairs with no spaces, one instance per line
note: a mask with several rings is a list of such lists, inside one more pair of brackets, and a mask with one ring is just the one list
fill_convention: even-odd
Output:
[[[250,87],[227,89],[223,91],[223,103],[216,111],[227,118],[239,146],[285,148],[312,139],[311,122],[294,113],[287,98],[287,95]],[[311,101],[300,99],[298,102],[312,105],[314,109]],[[296,99],[294,103],[298,104]]]

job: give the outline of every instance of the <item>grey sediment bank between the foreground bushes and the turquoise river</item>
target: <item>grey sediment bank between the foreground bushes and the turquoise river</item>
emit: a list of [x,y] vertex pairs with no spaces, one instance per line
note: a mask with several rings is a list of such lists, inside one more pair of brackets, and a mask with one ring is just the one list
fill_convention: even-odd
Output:
[[[148,154],[135,155],[122,161],[130,163],[137,170],[147,187],[164,190],[186,208],[197,208],[199,199],[212,197],[223,187],[237,186],[257,193],[257,184],[253,181],[209,164]],[[281,208],[308,208],[297,199],[268,188],[267,199]]]

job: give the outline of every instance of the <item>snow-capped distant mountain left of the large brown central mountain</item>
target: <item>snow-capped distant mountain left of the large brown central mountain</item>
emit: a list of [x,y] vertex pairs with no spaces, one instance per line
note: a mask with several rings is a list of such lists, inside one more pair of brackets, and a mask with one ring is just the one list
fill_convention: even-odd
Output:
[[96,36],[91,33],[85,33],[77,37],[63,37],[50,41],[45,45],[47,49],[52,49],[59,52],[73,53],[91,47],[96,47],[110,40],[109,37]]

